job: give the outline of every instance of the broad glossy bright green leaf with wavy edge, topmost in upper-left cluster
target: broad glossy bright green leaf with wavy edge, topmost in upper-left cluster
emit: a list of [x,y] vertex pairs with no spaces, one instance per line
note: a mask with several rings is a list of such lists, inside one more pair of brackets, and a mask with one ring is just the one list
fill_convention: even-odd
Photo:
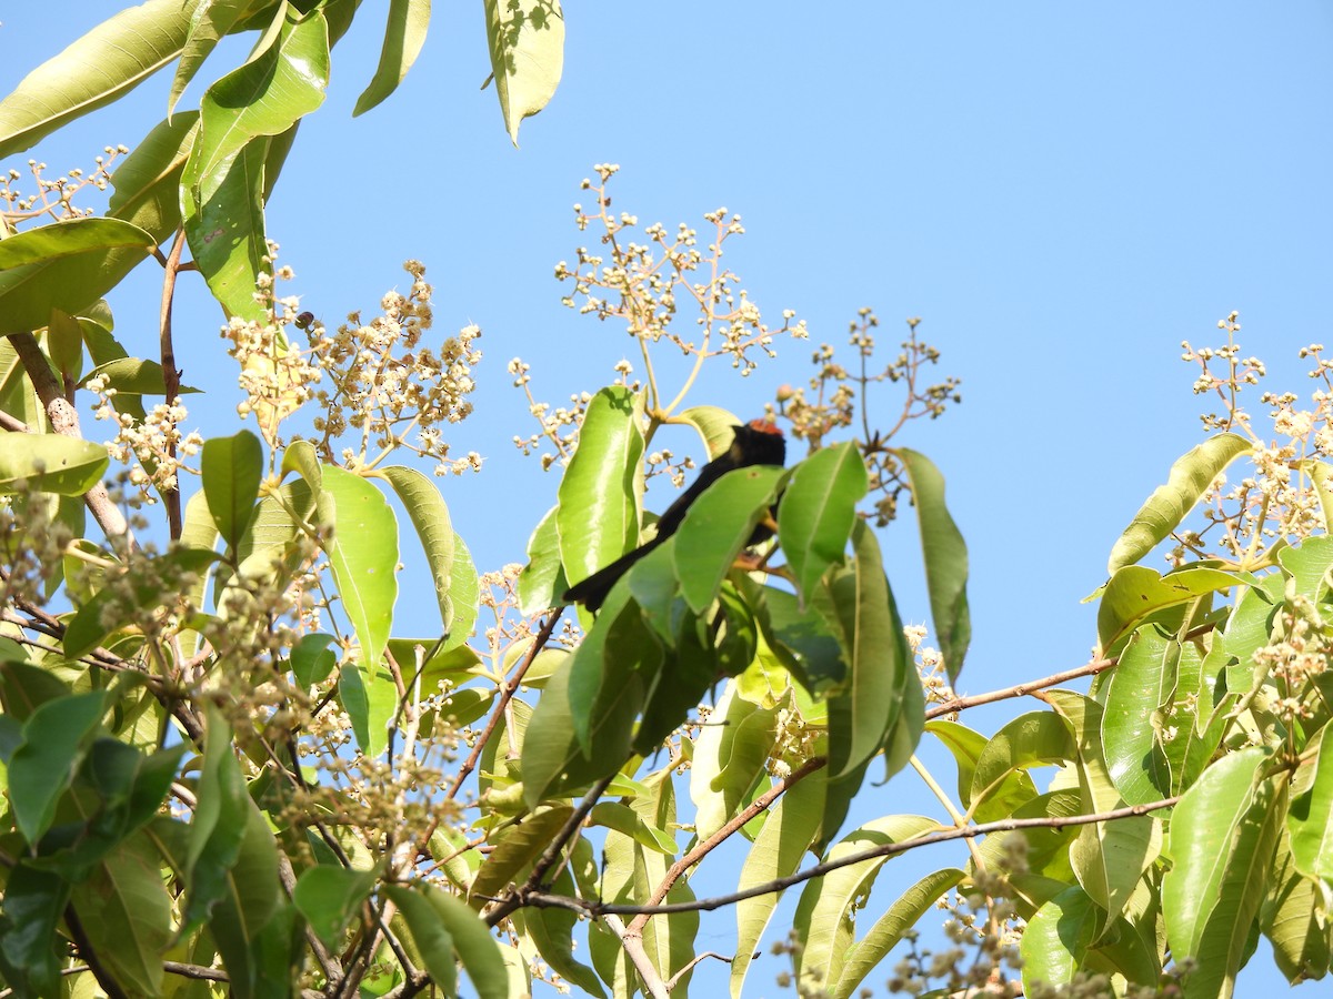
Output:
[[328,23],[321,11],[289,13],[264,51],[227,73],[200,101],[191,177],[212,177],[260,136],[279,136],[324,103]]

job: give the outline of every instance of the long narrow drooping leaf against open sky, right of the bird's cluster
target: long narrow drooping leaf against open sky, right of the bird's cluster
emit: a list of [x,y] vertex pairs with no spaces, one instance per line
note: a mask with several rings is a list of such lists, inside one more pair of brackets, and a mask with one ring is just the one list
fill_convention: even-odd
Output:
[[926,589],[930,593],[930,619],[936,641],[944,655],[949,682],[958,678],[962,658],[972,641],[972,618],[968,614],[968,546],[958,526],[944,505],[944,476],[924,454],[900,448],[912,486],[921,530],[921,554],[925,561]]

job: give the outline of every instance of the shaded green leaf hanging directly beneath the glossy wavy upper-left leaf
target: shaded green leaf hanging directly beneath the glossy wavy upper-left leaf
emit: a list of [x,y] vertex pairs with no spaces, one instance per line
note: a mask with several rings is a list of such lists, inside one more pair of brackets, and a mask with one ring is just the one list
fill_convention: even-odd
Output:
[[269,272],[264,181],[272,141],[248,143],[207,176],[199,174],[196,145],[181,178],[185,238],[195,264],[231,314],[256,322],[268,318],[255,301],[255,285]]

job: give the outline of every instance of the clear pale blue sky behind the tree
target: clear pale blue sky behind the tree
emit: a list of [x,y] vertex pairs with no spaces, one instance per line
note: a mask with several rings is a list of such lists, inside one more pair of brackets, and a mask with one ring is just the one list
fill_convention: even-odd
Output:
[[[81,0],[55,19],[41,4],[0,7],[0,91],[113,7]],[[335,52],[269,232],[295,290],[331,324],[403,285],[399,265],[416,257],[437,288],[440,334],[483,326],[477,412],[455,448],[481,452],[487,469],[443,482],[481,567],[523,559],[556,489],[555,472],[509,444],[531,422],[505,362],[523,356],[539,397],[559,404],[612,381],[631,346],[563,309],[552,277],[587,240],[571,204],[587,200],[577,185],[595,163],[621,165],[616,208],[645,224],[740,212],[748,234],[729,244],[730,265],[769,317],[804,317],[813,342],[844,344],[862,305],[886,346],[922,317],[964,405],[900,442],[944,472],[970,547],[964,693],[1086,659],[1094,607],[1080,599],[1138,503],[1201,440],[1181,340],[1222,342],[1216,322],[1237,309],[1270,388],[1306,390],[1296,352],[1325,337],[1333,253],[1326,4],[571,4],[564,80],[523,125],[521,149],[493,92],[477,89],[489,72],[479,3],[436,4],[399,93],[351,117],[384,7],[364,4]],[[201,81],[239,57],[215,56]],[[59,172],[133,144],[161,117],[168,83],[32,155]],[[157,277],[141,268],[137,290],[112,300],[132,352],[152,350]],[[177,346],[185,380],[213,389],[196,408],[203,429],[231,433],[220,316],[200,288],[183,286],[180,309],[177,336],[195,341]],[[780,382],[806,377],[808,353],[782,346],[693,401],[757,413]],[[1261,412],[1257,396],[1250,405]],[[670,446],[697,446],[680,434]],[[884,543],[904,617],[924,621],[914,538],[902,522]],[[993,731],[1037,706],[964,721]],[[913,781],[868,790],[861,818],[890,795],[897,807],[900,786],[936,814]],[[904,880],[957,859],[912,856]],[[893,895],[876,898],[870,918]],[[700,947],[725,950],[730,926],[705,922]],[[1254,966],[1241,992],[1281,980],[1266,950]],[[770,967],[752,971],[756,995],[777,991]]]

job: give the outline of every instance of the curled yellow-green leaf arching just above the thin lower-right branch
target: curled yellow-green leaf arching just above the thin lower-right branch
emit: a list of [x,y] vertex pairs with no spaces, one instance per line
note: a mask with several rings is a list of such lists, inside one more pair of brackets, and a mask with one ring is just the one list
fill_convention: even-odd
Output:
[[1077,757],[1064,718],[1052,711],[1029,711],[1008,722],[977,755],[972,777],[972,815],[996,822],[1037,797],[1029,767],[1065,763]]

